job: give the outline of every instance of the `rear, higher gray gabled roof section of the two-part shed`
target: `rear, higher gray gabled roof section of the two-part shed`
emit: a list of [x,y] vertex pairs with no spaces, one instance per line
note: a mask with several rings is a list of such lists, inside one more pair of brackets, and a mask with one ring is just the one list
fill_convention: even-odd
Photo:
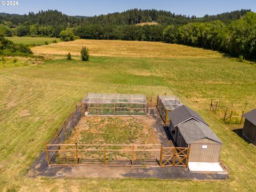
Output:
[[188,108],[185,105],[177,107],[176,109],[170,111],[169,114],[173,126],[177,126],[178,124],[193,118],[204,123],[205,125],[208,125],[204,119],[198,113],[196,113],[196,111]]

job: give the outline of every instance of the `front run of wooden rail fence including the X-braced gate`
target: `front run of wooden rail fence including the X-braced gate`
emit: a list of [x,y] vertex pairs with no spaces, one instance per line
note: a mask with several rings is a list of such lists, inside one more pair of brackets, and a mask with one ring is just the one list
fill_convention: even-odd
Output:
[[[49,149],[57,147],[56,149]],[[108,149],[118,147],[117,149]],[[120,149],[125,147],[126,149]],[[139,147],[146,147],[141,149]],[[153,147],[153,148],[150,148]],[[188,166],[189,148],[163,147],[162,144],[145,145],[88,145],[88,144],[46,144],[46,157],[49,166]],[[109,153],[130,154],[131,158],[109,159]],[[49,153],[55,153],[59,160],[50,159]],[[62,154],[69,153],[68,157]],[[98,153],[102,158],[90,158],[90,154]],[[145,153],[150,153],[146,156]],[[86,156],[87,155],[87,156]],[[137,158],[140,156],[140,158]]]

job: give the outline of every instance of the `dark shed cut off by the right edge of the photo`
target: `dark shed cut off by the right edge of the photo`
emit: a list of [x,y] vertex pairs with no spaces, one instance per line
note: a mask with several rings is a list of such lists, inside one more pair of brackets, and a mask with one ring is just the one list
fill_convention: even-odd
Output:
[[245,118],[243,136],[256,145],[256,109],[243,115]]

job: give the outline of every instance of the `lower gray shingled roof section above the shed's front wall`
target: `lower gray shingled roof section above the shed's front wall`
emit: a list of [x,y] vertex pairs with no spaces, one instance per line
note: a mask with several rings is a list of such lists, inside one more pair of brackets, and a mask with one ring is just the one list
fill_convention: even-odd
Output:
[[213,133],[209,126],[194,119],[179,124],[178,128],[186,143],[206,138],[222,144],[222,141]]

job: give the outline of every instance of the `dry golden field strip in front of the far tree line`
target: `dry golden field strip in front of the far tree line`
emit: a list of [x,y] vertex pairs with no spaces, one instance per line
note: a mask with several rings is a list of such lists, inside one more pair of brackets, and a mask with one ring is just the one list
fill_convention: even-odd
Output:
[[92,56],[137,57],[137,58],[220,58],[221,54],[211,50],[162,42],[111,41],[78,39],[33,47],[39,55],[79,55],[82,46],[89,47]]

